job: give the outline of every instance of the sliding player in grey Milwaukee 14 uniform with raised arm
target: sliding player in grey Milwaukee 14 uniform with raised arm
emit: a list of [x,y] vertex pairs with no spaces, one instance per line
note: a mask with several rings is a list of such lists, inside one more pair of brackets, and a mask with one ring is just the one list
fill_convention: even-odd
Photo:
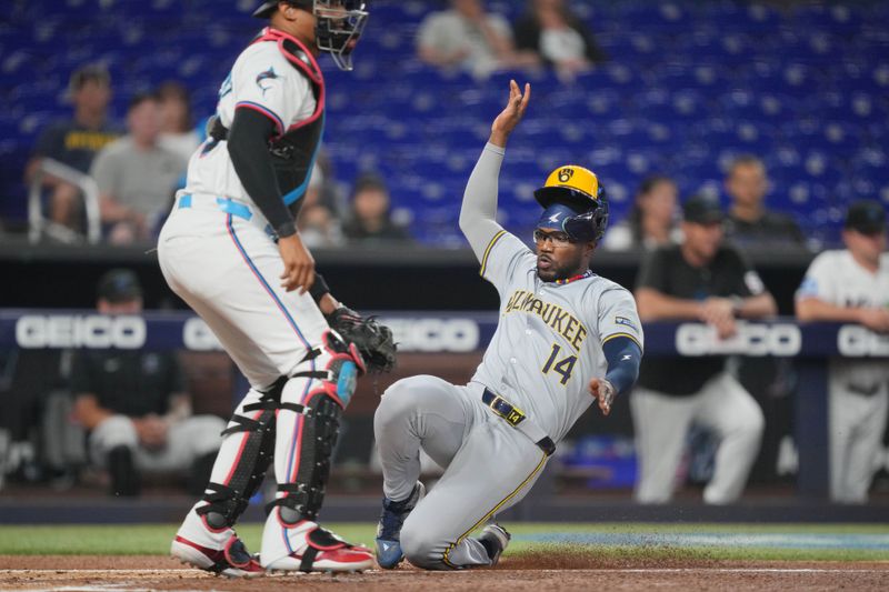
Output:
[[[383,470],[377,561],[447,570],[493,565],[509,542],[500,525],[472,532],[521,500],[587,408],[605,414],[642,357],[632,295],[589,270],[608,224],[596,174],[556,169],[535,192],[543,207],[537,253],[495,220],[507,139],[530,99],[510,82],[460,211],[460,228],[500,294],[500,322],[466,385],[421,375],[387,389],[374,417]],[[424,495],[419,453],[446,466]]]

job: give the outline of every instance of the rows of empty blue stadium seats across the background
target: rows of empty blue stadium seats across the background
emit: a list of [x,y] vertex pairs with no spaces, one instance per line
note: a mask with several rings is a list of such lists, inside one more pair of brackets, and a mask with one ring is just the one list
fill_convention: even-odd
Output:
[[[3,197],[23,194],[21,172],[10,167],[21,167],[48,121],[69,116],[68,77],[86,62],[111,69],[117,116],[133,91],[167,78],[189,86],[199,117],[212,112],[220,80],[261,26],[249,18],[253,4],[0,3]],[[508,0],[487,6],[509,19],[523,10]],[[535,87],[501,175],[503,210],[521,227],[538,211],[530,191],[567,161],[599,172],[615,211],[623,212],[646,173],[671,174],[686,193],[712,189],[728,159],[753,152],[769,168],[775,207],[799,212],[827,238],[848,200],[889,200],[889,3],[782,11],[736,0],[576,0],[572,8],[610,56],[606,64],[573,83],[549,70],[496,72],[482,82],[417,59],[414,37],[429,2],[374,2],[356,70],[321,60],[326,147],[337,178],[351,182],[379,170],[393,203],[413,211],[420,240],[463,244],[459,197],[515,77]]]

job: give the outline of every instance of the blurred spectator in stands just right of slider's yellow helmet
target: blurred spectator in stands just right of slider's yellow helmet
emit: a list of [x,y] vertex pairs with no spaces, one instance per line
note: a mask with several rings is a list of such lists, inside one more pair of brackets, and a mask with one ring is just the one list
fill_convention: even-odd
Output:
[[639,185],[627,219],[616,224],[605,237],[607,250],[652,250],[679,242],[676,204],[679,189],[669,177],[647,177]]

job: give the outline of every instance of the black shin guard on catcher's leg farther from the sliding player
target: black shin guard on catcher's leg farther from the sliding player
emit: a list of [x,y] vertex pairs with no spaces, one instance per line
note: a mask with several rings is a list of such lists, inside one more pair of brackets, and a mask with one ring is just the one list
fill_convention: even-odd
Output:
[[[232,415],[233,425],[222,431],[223,438],[246,432],[246,441],[230,469],[228,483],[210,482],[210,493],[203,495],[206,505],[198,508],[208,526],[224,529],[232,526],[247,509],[250,498],[257,492],[274,455],[276,410],[280,408],[281,391],[286,380],[279,379],[256,403],[241,407]],[[248,417],[244,413],[259,412]]]

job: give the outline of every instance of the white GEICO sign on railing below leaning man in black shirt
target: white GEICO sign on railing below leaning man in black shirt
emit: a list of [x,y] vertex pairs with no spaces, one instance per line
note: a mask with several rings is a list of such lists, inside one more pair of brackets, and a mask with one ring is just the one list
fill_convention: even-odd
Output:
[[719,339],[709,324],[686,323],[676,330],[676,351],[680,355],[796,355],[802,345],[802,334],[795,324],[737,323],[738,332]]

